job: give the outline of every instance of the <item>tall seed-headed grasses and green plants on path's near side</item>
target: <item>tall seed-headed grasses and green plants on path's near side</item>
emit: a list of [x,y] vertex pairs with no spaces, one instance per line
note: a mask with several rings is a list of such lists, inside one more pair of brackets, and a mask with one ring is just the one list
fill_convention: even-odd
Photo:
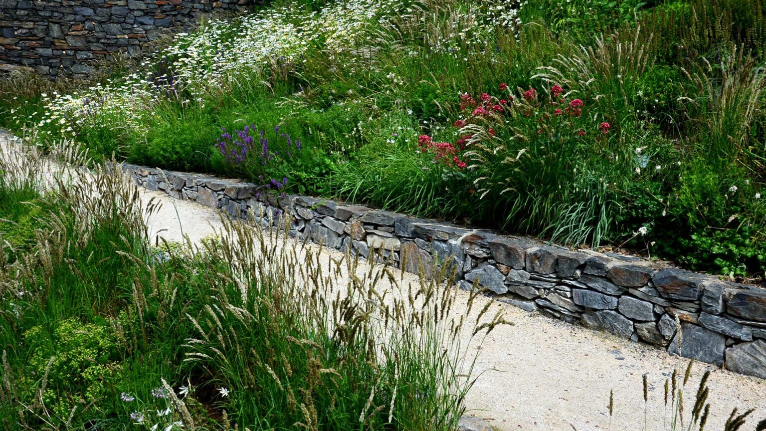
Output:
[[12,159],[0,196],[41,203],[0,248],[4,429],[457,428],[461,341],[502,321],[456,318],[451,268],[400,285],[256,218],[151,248],[156,206],[123,174],[59,168],[42,188],[49,166]]

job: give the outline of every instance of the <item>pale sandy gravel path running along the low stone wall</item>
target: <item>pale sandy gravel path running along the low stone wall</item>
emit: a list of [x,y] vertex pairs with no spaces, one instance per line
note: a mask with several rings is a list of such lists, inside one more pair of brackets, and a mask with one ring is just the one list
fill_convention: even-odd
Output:
[[[2,133],[0,146],[8,148]],[[143,202],[152,198],[162,202],[159,212],[148,220],[152,241],[159,235],[180,242],[183,232],[192,242],[198,242],[221,229],[217,210],[173,199],[162,192],[142,190],[141,195]],[[339,252],[326,251],[322,256],[326,262],[342,258]],[[358,271],[368,271],[366,262],[360,263]],[[418,282],[411,274],[405,274],[404,281]],[[459,302],[464,304],[467,295],[459,292]],[[491,301],[478,300],[481,304],[474,306],[474,314],[485,301]],[[489,419],[502,430],[645,429],[642,375],[649,373],[646,429],[669,429],[669,424],[663,426],[664,380],[674,367],[685,369],[686,361],[681,363],[679,358],[655,347],[529,314],[508,304],[495,301],[496,308],[514,326],[498,327],[481,347],[477,348],[476,342],[470,346],[469,354],[477,349],[480,354],[474,370],[479,378],[466,400],[470,413]],[[693,367],[685,396],[687,411],[692,408],[699,377],[708,367]],[[722,429],[734,407],[741,411],[757,408],[743,428],[755,429],[755,423],[766,418],[766,380],[710,368],[712,416],[705,429]],[[612,419],[607,413],[610,390],[614,390],[615,400]]]

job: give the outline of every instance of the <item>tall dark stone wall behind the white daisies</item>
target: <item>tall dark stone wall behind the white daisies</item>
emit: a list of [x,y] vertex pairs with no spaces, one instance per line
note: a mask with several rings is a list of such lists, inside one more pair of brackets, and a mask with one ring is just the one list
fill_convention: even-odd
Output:
[[96,58],[137,55],[172,28],[258,0],[0,0],[0,72],[87,77]]

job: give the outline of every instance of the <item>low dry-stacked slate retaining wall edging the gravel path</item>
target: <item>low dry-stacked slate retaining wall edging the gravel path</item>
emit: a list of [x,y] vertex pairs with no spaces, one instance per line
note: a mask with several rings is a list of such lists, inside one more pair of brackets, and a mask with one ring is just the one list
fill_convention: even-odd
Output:
[[[136,183],[223,209],[287,221],[290,235],[362,255],[379,252],[405,271],[449,265],[460,288],[660,346],[766,379],[766,289],[658,262],[572,252],[533,239],[447,225],[307,196],[276,196],[254,184],[123,165]],[[680,330],[680,331],[678,331]],[[680,341],[680,343],[679,343]],[[680,346],[679,346],[680,344]]]

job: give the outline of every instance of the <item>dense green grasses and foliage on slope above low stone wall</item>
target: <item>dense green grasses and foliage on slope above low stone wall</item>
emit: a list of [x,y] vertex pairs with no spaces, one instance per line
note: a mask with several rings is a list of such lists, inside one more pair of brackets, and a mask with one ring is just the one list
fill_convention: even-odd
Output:
[[[288,192],[764,274],[762,0],[499,2],[512,8],[505,15],[489,0],[306,0],[282,13],[284,4],[265,16],[279,35],[300,28],[295,44],[264,54],[241,36],[267,38],[264,21],[213,23],[146,62],[159,97],[131,90],[92,113],[83,94],[47,108],[33,100],[34,109],[8,97],[2,106],[21,116],[7,125],[135,163],[256,182],[270,178],[248,175],[215,144],[222,129],[279,125],[303,144],[295,163],[275,161],[268,174],[286,177]],[[326,28],[310,24],[311,11],[325,14]],[[234,54],[206,57],[207,46]],[[93,94],[124,94],[107,85]],[[556,85],[561,100],[551,97]],[[524,102],[532,88],[529,117],[516,107],[452,126],[472,117],[463,94]],[[573,100],[584,102],[581,118],[549,120],[559,118],[552,104]],[[418,146],[421,135],[452,144],[466,167],[439,163],[436,146]]]

